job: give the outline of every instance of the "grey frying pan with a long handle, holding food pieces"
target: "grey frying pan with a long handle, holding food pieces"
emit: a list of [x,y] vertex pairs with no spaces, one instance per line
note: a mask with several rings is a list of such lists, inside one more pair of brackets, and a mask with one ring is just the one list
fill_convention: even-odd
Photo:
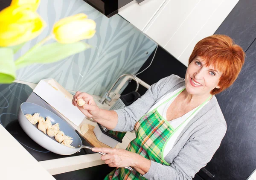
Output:
[[[29,122],[28,119],[26,119],[25,114],[34,114],[34,113],[40,113],[40,116],[46,118],[47,116],[51,117],[52,125],[59,123],[60,130],[64,132],[65,135],[72,137],[73,143],[72,145],[75,148],[70,148],[65,145],[60,144],[55,140],[54,137],[50,137],[47,134],[44,134],[44,132],[40,131],[38,129],[38,123],[33,125],[31,122]],[[39,105],[36,105],[31,102],[23,102],[20,105],[19,111],[18,111],[18,122],[23,129],[23,131],[36,143],[41,145],[43,148],[47,149],[48,151],[52,151],[56,154],[61,155],[70,155],[75,154],[76,152],[79,152],[81,148],[87,148],[92,149],[90,146],[82,145],[81,138],[78,136],[75,130],[63,119],[61,119],[59,116],[57,116],[55,113],[52,113],[51,111],[45,109],[44,107],[41,107]],[[105,153],[98,152],[101,155],[105,155]],[[129,169],[130,171],[133,171],[133,168],[125,167]]]

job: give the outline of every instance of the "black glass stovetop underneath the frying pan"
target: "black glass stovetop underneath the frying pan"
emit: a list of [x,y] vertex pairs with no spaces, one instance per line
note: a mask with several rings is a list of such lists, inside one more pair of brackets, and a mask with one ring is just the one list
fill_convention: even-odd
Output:
[[[91,150],[81,149],[79,153],[63,156],[52,153],[38,145],[26,135],[18,122],[17,112],[21,103],[23,102],[35,103],[52,111],[57,116],[61,116],[49,104],[47,104],[47,102],[35,94],[32,88],[30,88],[28,85],[21,83],[0,84],[0,123],[36,160],[53,160],[95,153]],[[90,144],[79,134],[78,131],[76,131],[76,133],[80,136],[83,145],[90,146]]]

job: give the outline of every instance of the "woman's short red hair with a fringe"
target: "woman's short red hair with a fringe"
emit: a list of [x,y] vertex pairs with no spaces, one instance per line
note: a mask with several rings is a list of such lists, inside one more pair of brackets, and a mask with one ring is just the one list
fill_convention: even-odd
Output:
[[206,66],[212,65],[223,73],[218,83],[220,88],[211,91],[214,95],[230,87],[236,80],[244,64],[245,53],[229,36],[211,35],[195,45],[189,64],[196,56],[203,58]]

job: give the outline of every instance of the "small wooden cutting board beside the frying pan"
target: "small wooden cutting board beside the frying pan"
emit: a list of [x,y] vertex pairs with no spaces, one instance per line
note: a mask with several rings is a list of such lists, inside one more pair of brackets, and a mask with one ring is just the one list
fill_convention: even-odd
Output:
[[93,132],[93,129],[94,129],[94,126],[88,125],[88,124],[81,125],[80,127],[81,133],[84,136],[84,138],[87,139],[87,141],[89,141],[94,147],[111,148],[110,146],[105,145],[104,143],[98,141],[97,137]]

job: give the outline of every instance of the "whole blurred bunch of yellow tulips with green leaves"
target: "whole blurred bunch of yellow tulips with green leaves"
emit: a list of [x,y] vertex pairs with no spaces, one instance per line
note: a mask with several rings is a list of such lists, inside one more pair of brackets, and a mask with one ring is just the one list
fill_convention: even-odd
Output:
[[[52,63],[91,48],[85,42],[95,34],[96,23],[85,14],[66,17],[55,23],[53,33],[38,42],[14,61],[14,54],[38,36],[46,23],[38,15],[40,0],[12,0],[11,6],[0,11],[0,83],[12,83],[15,71],[35,63]],[[45,44],[51,38],[58,42]]]

